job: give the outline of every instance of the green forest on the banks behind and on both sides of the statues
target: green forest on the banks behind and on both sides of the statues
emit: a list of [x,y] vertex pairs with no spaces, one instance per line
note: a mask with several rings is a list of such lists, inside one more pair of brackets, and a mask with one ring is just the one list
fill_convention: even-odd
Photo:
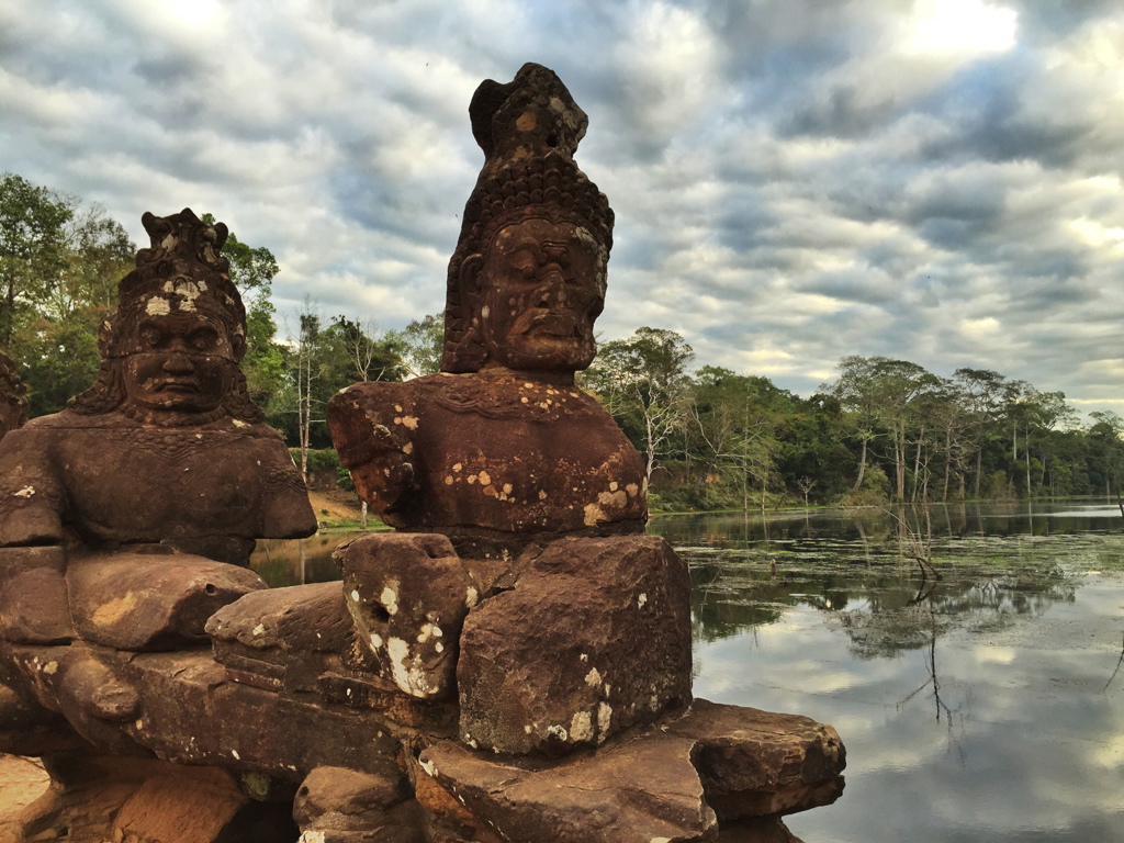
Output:
[[[294,448],[330,464],[324,405],[354,381],[436,371],[442,319],[380,332],[306,300],[279,332],[278,263],[232,234],[224,254],[242,291],[251,392]],[[98,369],[98,326],[136,246],[97,205],[4,174],[0,181],[0,351],[17,361],[31,416],[55,413]],[[640,451],[653,508],[1115,496],[1124,419],[1082,425],[1062,392],[982,369],[934,374],[904,360],[847,356],[816,395],[768,378],[694,368],[672,330],[602,343],[579,382]],[[328,453],[325,453],[328,452]]]

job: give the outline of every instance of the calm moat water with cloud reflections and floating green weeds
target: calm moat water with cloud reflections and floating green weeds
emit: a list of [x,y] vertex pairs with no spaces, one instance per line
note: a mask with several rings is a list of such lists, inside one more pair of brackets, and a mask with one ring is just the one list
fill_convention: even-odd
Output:
[[[846,744],[842,798],[787,821],[807,843],[1124,840],[1117,506],[650,529],[690,565],[696,696],[807,715]],[[345,537],[262,542],[255,566],[275,586],[333,579]]]

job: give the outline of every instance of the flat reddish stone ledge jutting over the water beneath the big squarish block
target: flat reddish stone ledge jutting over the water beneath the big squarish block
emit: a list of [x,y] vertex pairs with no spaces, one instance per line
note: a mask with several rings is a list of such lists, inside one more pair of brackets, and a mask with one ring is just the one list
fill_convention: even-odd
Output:
[[443,741],[420,753],[415,779],[444,825],[462,834],[469,826],[466,840],[495,831],[554,843],[773,843],[795,840],[782,814],[839,798],[845,762],[831,726],[697,700],[558,762],[497,759]]

